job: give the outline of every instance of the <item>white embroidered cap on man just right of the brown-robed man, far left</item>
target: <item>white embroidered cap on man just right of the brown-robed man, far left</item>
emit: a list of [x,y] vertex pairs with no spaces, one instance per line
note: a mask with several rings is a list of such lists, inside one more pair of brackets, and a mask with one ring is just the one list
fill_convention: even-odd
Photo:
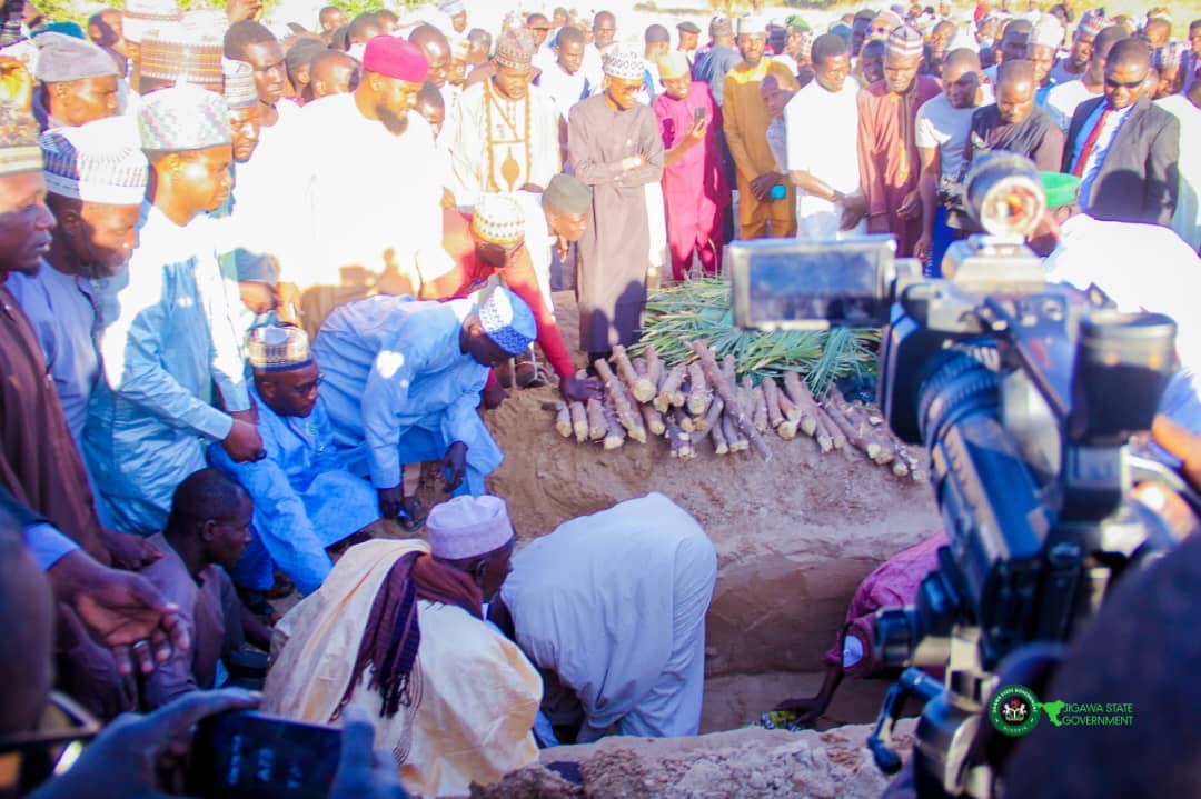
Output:
[[145,199],[150,169],[129,120],[54,128],[38,144],[52,194],[103,205],[141,205]]

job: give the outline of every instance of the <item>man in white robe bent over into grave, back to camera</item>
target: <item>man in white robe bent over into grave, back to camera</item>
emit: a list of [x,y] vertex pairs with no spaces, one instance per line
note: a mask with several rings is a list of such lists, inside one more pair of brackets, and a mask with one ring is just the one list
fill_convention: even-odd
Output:
[[576,743],[695,735],[717,554],[652,493],[564,522],[513,558],[490,618],[542,669],[544,710]]

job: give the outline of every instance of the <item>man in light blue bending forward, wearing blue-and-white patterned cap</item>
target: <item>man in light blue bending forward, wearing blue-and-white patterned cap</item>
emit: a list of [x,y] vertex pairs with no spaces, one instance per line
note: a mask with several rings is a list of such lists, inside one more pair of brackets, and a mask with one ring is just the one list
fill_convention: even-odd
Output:
[[334,437],[351,470],[370,475],[380,510],[412,505],[401,465],[442,461],[448,493],[485,493],[503,456],[479,415],[491,367],[537,336],[533,312],[502,286],[468,300],[374,296],[330,314],[313,344]]

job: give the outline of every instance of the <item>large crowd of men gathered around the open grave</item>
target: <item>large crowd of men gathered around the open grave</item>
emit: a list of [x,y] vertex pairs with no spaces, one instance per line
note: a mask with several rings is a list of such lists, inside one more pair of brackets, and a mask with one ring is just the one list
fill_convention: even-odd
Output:
[[[753,5],[703,43],[563,7],[484,30],[461,0],[328,6],[312,30],[257,0],[86,26],[26,0],[0,34],[0,607],[38,612],[0,644],[0,737],[37,726],[52,674],[98,719],[159,710],[83,775],[257,702],[222,685],[345,720],[347,785],[399,765],[423,795],[539,746],[695,734],[707,536],[651,494],[514,555],[484,414],[551,382],[599,397],[580,365],[735,239],[889,234],[938,276],[979,232],[963,186],[987,152],[1077,186],[1032,245],[1177,319],[1163,410],[1201,431],[1179,290],[1201,274],[1201,19]],[[452,498],[425,509],[430,462]]]

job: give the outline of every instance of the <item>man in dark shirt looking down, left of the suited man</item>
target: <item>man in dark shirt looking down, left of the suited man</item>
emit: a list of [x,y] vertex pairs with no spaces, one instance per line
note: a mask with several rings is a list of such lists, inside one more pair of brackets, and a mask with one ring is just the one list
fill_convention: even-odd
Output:
[[[1059,172],[1063,131],[1034,102],[1034,65],[1005,61],[997,71],[997,102],[972,115],[972,148],[963,174],[982,152],[1004,150],[1026,156],[1042,172]],[[973,228],[975,229],[975,228]]]

